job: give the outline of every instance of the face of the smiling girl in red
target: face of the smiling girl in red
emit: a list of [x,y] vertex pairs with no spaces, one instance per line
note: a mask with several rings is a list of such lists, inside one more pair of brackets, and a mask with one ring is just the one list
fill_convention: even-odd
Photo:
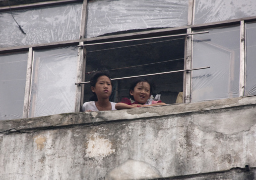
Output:
[[150,97],[150,85],[148,82],[139,82],[130,90],[130,94],[134,96],[134,100],[139,104],[145,104]]

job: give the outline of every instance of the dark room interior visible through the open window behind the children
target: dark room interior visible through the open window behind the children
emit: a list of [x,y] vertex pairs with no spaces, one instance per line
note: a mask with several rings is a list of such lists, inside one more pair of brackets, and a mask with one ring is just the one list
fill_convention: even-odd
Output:
[[[182,70],[184,68],[184,37],[159,38],[102,44],[87,47],[86,72],[108,69],[111,78],[138,76]],[[86,81],[91,76],[86,75]],[[183,90],[183,72],[144,77],[154,82],[153,96],[161,95],[165,103],[175,103],[177,95]],[[119,102],[129,97],[133,78],[114,80],[114,91],[110,101]],[[84,102],[92,95],[89,84],[85,85]]]

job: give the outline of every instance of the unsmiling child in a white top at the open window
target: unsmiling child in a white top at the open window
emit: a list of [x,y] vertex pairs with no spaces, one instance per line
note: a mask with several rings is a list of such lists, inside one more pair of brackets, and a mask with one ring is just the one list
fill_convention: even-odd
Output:
[[85,102],[82,111],[107,111],[116,110],[114,102],[109,101],[112,92],[112,83],[107,71],[97,72],[90,80],[93,96]]

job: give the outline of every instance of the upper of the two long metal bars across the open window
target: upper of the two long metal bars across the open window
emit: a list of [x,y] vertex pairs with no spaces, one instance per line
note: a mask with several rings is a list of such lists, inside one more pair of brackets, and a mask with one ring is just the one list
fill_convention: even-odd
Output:
[[127,41],[148,40],[148,39],[156,39],[156,38],[168,38],[168,37],[175,37],[175,36],[196,35],[196,34],[203,34],[203,33],[209,33],[209,31],[202,31],[202,32],[197,32],[197,33],[189,33],[189,34],[184,33],[184,34],[177,34],[177,35],[158,36],[158,37],[151,37],[151,38],[140,38],[140,39],[132,39],[132,40],[110,41],[110,42],[104,42],[104,43],[92,43],[92,44],[79,45],[78,47],[91,46],[91,45],[100,45],[100,44],[109,44],[109,43],[120,43],[120,42],[127,42]]

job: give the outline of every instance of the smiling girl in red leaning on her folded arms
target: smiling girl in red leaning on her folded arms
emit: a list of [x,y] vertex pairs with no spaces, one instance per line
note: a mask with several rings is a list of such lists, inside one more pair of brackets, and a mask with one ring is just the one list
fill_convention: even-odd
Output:
[[152,83],[146,79],[136,79],[130,87],[129,94],[132,103],[128,98],[123,98],[121,102],[115,105],[116,109],[130,109],[136,107],[148,107],[148,106],[158,106],[165,105],[162,101],[150,101],[147,102],[152,94]]

